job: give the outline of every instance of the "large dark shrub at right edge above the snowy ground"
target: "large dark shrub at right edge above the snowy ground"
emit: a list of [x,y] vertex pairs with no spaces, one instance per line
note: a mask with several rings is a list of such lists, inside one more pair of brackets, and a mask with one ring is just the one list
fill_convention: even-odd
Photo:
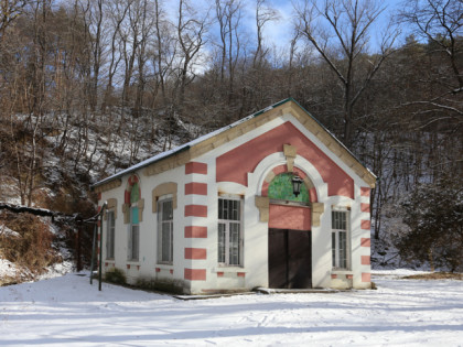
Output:
[[431,271],[463,269],[463,189],[455,181],[418,185],[401,202],[409,227],[397,243],[402,259],[429,261]]

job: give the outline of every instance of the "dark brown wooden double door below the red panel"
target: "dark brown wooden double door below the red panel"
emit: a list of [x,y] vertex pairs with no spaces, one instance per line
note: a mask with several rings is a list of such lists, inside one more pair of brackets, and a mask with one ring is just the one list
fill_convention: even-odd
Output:
[[311,232],[269,229],[269,286],[312,286]]

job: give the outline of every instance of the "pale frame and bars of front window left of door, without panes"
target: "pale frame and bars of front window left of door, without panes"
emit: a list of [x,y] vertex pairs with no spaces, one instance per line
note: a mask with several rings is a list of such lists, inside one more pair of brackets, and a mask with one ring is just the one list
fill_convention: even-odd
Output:
[[[220,203],[219,200],[232,200],[232,202],[238,202],[239,206],[237,209],[238,213],[238,219],[229,219],[229,218],[220,218]],[[244,196],[241,195],[230,195],[230,194],[220,194],[217,198],[217,263],[219,267],[244,267]],[[224,241],[220,242],[220,225],[223,225],[225,228],[223,230],[224,232]],[[239,226],[238,229],[238,241],[235,242],[235,248],[238,248],[236,257],[238,258],[238,261],[235,262],[232,260],[233,254],[230,254],[230,229],[232,226]],[[222,246],[222,243],[225,243]],[[220,261],[220,249],[224,261]]]

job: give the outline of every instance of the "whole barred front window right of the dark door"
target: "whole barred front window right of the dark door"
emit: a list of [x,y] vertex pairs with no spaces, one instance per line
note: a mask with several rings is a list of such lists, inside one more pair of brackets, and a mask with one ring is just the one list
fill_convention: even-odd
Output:
[[349,268],[349,252],[348,252],[348,210],[333,210],[331,213],[332,220],[332,259],[333,268],[348,269]]

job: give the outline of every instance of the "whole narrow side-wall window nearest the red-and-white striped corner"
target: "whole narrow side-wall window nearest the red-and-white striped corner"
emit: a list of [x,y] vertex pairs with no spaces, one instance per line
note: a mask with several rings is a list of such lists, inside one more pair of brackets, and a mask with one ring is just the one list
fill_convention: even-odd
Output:
[[173,200],[158,202],[158,262],[173,262]]

